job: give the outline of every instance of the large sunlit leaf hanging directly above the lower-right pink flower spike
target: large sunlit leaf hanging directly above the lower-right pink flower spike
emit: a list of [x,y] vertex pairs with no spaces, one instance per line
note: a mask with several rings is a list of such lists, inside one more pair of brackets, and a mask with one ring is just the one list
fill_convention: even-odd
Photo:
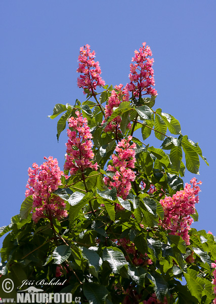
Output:
[[186,168],[195,174],[199,174],[199,156],[188,142],[187,135],[182,138],[182,147],[185,152]]

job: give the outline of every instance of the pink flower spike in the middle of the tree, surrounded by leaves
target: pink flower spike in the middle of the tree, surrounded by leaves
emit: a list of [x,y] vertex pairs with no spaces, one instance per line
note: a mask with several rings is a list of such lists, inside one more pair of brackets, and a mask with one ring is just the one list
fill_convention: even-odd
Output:
[[112,155],[112,166],[108,165],[107,169],[114,172],[112,180],[104,177],[104,183],[111,189],[116,187],[117,196],[123,200],[126,199],[131,190],[131,182],[135,180],[135,172],[130,168],[135,168],[135,147],[136,144],[129,144],[132,136],[128,139],[122,139],[116,146],[116,154]]

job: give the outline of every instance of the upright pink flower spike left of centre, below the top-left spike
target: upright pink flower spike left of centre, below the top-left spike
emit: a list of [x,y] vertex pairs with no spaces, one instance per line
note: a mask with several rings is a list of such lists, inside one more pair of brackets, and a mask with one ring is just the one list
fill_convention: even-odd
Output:
[[73,129],[67,129],[68,142],[67,156],[64,165],[65,170],[69,170],[70,174],[75,174],[78,170],[83,172],[87,168],[97,170],[98,164],[92,163],[94,159],[94,153],[92,151],[93,143],[91,141],[92,134],[88,126],[88,120],[82,117],[79,111],[76,111],[77,118],[69,118],[69,127]]

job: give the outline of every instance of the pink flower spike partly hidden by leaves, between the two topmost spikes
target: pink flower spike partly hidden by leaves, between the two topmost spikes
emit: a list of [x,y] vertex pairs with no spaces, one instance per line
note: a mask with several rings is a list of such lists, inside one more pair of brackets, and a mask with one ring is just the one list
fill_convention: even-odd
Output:
[[[116,108],[120,105],[122,101],[129,101],[129,93],[126,88],[122,89],[123,85],[115,86],[115,90],[112,90],[111,96],[108,99],[108,103],[105,108],[105,123],[113,113],[113,108]],[[121,117],[117,116],[114,118],[105,128],[105,132],[119,132],[119,125],[121,123]],[[127,125],[127,129],[131,128],[131,123]]]

